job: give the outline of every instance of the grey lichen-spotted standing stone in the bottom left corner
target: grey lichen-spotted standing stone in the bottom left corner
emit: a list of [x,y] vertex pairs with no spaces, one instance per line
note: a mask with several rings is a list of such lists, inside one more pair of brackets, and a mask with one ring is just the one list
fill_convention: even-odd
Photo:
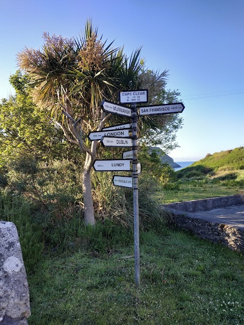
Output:
[[0,325],[24,325],[29,290],[16,226],[0,221]]

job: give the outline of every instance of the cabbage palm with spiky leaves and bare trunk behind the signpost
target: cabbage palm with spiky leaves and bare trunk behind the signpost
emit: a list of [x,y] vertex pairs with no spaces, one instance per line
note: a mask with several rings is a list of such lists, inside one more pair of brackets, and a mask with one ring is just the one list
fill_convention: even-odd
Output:
[[89,131],[100,131],[112,114],[100,108],[114,101],[117,91],[136,89],[141,69],[140,49],[131,57],[123,49],[99,38],[98,29],[87,21],[77,39],[44,33],[42,49],[25,48],[17,56],[19,67],[29,75],[32,95],[40,109],[50,111],[67,140],[86,153],[82,175],[85,224],[95,224],[90,173],[98,141],[87,143]]

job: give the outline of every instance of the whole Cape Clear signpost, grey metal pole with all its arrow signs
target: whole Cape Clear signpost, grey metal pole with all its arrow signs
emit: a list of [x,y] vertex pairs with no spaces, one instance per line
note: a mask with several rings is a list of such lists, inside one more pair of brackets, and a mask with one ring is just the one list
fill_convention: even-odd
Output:
[[[91,141],[100,140],[104,147],[130,147],[131,150],[124,151],[123,159],[96,159],[93,168],[96,172],[105,171],[132,171],[132,177],[113,176],[113,185],[129,187],[133,189],[134,205],[134,249],[135,249],[135,282],[140,284],[140,249],[139,249],[139,205],[138,205],[138,175],[141,173],[141,163],[137,160],[137,122],[138,116],[182,113],[185,109],[182,103],[161,104],[139,107],[137,112],[136,104],[147,103],[147,89],[127,90],[119,92],[119,102],[131,104],[131,107],[116,103],[103,101],[102,110],[107,113],[129,117],[130,123],[118,124],[103,127],[102,131],[90,132],[88,138]],[[129,136],[129,133],[132,133]],[[131,170],[132,163],[132,170]]]

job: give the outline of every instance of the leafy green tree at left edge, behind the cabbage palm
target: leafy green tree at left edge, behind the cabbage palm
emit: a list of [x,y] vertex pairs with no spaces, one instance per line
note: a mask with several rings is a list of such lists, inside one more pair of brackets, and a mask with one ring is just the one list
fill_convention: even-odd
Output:
[[10,77],[16,95],[0,103],[0,165],[14,160],[67,157],[70,145],[45,112],[37,109],[27,89],[27,76]]

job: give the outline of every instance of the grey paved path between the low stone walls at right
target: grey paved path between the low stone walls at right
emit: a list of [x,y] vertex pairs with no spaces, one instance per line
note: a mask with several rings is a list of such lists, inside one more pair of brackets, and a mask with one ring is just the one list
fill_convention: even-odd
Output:
[[235,228],[244,230],[244,205],[234,205],[225,208],[217,208],[209,211],[186,212],[175,210],[177,213],[189,217],[210,222],[224,223]]

